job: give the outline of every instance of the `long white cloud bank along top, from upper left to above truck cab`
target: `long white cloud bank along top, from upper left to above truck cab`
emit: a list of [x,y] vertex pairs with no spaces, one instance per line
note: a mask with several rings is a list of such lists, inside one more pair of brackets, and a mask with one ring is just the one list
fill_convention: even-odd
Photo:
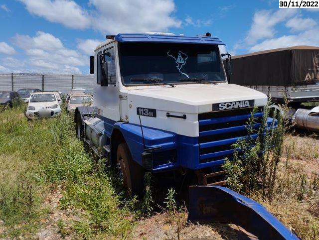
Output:
[[92,10],[74,0],[19,0],[26,9],[64,26],[97,29],[103,34],[118,32],[166,31],[180,27],[173,16],[173,0],[89,0]]

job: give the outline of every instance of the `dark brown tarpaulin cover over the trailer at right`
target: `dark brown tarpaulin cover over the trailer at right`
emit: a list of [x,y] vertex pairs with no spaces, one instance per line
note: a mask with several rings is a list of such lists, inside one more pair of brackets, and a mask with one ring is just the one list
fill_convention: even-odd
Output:
[[296,86],[319,80],[319,47],[296,46],[234,56],[230,83]]

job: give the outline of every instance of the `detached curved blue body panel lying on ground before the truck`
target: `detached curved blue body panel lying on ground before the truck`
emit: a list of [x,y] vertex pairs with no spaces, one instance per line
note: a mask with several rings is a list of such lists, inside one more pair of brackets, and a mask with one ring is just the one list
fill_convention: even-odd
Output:
[[188,220],[235,224],[260,240],[299,240],[261,204],[225,187],[189,186]]

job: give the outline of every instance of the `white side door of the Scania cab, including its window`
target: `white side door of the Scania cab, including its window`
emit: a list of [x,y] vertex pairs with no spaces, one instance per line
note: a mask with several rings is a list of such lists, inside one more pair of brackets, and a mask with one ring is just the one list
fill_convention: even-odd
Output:
[[[102,57],[101,57],[102,55]],[[95,86],[94,102],[98,114],[111,120],[120,120],[119,86],[116,74],[116,59],[114,47],[109,47],[97,55],[97,85]],[[103,63],[107,63],[107,86],[102,86]]]

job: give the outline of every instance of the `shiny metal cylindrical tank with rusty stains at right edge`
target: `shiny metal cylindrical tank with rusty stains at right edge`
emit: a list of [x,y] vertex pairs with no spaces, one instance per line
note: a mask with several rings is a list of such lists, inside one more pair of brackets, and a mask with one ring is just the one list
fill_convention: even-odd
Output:
[[298,109],[292,119],[297,127],[319,131],[319,113],[307,109]]

